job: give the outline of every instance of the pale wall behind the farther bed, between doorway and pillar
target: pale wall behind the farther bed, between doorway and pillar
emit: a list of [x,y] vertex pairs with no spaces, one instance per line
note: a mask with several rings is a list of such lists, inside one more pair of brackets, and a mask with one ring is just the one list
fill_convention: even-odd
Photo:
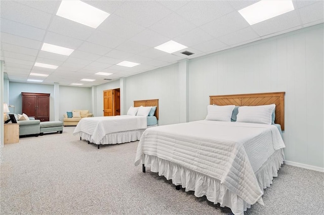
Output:
[[178,79],[178,64],[128,77],[126,109],[134,105],[134,100],[159,99],[158,124],[179,123]]

